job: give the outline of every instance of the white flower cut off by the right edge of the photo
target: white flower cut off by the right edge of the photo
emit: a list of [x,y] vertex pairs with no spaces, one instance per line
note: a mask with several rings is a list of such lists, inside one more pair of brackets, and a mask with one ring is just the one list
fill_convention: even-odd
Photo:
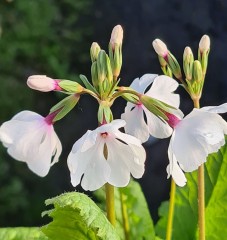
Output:
[[[168,149],[168,177],[179,186],[186,184],[184,172],[192,172],[206,162],[210,153],[225,144],[227,123],[217,113],[227,112],[227,103],[218,107],[193,109],[184,119],[171,120],[174,132]],[[178,165],[179,164],[179,165]],[[182,171],[182,170],[183,171]]]

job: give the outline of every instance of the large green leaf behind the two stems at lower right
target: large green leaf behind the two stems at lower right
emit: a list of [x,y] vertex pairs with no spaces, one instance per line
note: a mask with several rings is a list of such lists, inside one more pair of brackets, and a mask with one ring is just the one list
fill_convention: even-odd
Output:
[[[227,145],[208,156],[205,163],[206,239],[226,239],[227,236]],[[198,239],[197,171],[186,174],[187,185],[177,187],[173,223],[174,240]],[[165,237],[168,203],[159,209],[162,217],[156,225],[159,236]]]

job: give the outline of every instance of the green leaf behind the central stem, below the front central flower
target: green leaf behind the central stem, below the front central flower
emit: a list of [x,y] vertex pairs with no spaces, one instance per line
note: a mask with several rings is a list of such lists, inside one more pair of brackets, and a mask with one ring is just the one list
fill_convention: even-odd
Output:
[[[131,180],[124,188],[115,188],[115,208],[118,234],[124,239],[123,218],[121,210],[120,194],[124,196],[124,204],[127,206],[127,214],[130,228],[130,239],[134,240],[154,240],[154,225],[151,219],[148,206],[140,188],[139,183]],[[95,196],[100,200],[100,207],[105,209],[105,192],[99,189]]]

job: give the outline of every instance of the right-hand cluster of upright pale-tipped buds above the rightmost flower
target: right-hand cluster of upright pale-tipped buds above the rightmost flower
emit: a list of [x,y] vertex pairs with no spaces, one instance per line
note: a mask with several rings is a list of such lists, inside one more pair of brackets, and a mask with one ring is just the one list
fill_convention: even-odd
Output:
[[186,47],[183,54],[183,70],[185,79],[183,79],[181,67],[169,51],[166,44],[160,39],[153,41],[153,47],[158,54],[162,71],[167,76],[172,74],[182,82],[191,98],[200,99],[208,64],[208,55],[210,51],[210,38],[204,35],[198,48],[198,60],[194,60],[194,56],[190,47]]

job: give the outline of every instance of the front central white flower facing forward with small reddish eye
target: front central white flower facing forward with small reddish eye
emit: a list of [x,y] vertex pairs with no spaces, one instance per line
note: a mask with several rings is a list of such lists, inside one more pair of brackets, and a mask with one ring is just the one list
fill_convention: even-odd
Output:
[[114,120],[88,130],[75,142],[68,156],[73,186],[81,181],[85,190],[94,191],[105,183],[124,187],[130,181],[130,173],[135,178],[142,177],[145,150],[140,140],[118,130],[123,126],[125,121]]

